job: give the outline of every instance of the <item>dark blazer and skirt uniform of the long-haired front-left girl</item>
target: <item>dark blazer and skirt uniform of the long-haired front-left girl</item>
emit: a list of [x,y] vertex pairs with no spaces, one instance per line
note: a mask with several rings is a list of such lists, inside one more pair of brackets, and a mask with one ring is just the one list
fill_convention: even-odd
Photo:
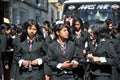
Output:
[[44,67],[43,63],[46,60],[46,57],[43,53],[42,49],[43,43],[40,41],[33,40],[32,43],[32,50],[29,50],[29,42],[26,39],[25,41],[20,43],[18,51],[15,53],[15,60],[19,63],[20,60],[35,60],[35,59],[42,59],[42,62],[39,65],[31,65],[30,70],[29,68],[25,68],[24,66],[19,64],[19,71],[22,77],[22,80],[44,80]]

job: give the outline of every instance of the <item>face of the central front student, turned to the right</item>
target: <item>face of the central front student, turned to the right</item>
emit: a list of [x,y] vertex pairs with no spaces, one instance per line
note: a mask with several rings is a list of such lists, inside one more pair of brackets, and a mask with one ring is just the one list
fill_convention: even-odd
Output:
[[57,35],[59,39],[62,39],[62,40],[68,39],[69,37],[68,29],[66,27],[62,28],[59,32],[57,32]]

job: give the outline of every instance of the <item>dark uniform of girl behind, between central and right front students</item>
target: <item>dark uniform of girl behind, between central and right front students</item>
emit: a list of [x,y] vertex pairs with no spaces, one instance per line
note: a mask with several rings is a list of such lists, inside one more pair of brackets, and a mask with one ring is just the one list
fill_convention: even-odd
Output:
[[[81,30],[79,35],[77,35],[76,33],[74,33],[72,35],[72,40],[73,40],[73,42],[75,42],[75,45],[82,52],[82,50],[85,49],[85,43],[89,42],[90,36],[89,36],[88,32]],[[84,56],[84,59],[85,59],[85,56]],[[85,70],[85,65],[81,65],[81,66],[79,66],[78,69],[76,69],[76,71],[75,71],[75,73],[76,73],[76,80],[82,80],[83,79],[84,70]]]

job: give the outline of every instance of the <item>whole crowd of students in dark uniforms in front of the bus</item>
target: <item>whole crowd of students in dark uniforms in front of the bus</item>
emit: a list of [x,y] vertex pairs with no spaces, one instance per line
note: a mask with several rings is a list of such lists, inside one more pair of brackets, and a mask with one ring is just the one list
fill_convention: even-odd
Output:
[[[14,26],[14,27],[13,27]],[[2,24],[0,77],[5,80],[119,80],[120,24],[81,19],[41,28],[34,19]]]

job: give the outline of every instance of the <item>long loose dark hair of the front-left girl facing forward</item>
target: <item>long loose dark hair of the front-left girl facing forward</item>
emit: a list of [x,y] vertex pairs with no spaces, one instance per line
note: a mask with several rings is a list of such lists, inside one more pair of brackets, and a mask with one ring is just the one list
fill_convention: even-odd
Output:
[[27,29],[28,29],[29,26],[31,27],[32,25],[35,25],[35,27],[37,28],[37,33],[35,35],[35,40],[36,41],[41,41],[43,39],[42,38],[42,32],[40,31],[38,22],[34,19],[29,19],[23,25],[23,32],[22,32],[22,35],[20,37],[21,42],[27,39],[27,35],[28,35]]

